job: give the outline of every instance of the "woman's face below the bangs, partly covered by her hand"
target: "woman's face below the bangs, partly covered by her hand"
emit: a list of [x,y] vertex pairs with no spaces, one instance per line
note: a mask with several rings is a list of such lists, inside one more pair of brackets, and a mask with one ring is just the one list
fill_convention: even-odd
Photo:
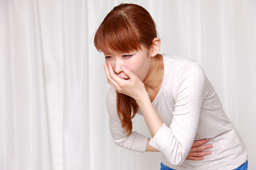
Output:
[[142,50],[134,50],[129,53],[116,52],[109,49],[104,53],[106,64],[111,64],[117,76],[123,79],[129,77],[122,71],[121,67],[127,67],[143,82],[151,69],[151,57],[149,50],[142,46]]

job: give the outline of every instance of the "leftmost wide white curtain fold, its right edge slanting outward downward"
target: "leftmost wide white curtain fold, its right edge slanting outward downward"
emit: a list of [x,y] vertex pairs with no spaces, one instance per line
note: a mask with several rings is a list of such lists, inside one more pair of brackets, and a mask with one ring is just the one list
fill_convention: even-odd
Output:
[[50,169],[36,6],[33,1],[26,6],[22,2],[1,1],[0,169],[3,170]]

